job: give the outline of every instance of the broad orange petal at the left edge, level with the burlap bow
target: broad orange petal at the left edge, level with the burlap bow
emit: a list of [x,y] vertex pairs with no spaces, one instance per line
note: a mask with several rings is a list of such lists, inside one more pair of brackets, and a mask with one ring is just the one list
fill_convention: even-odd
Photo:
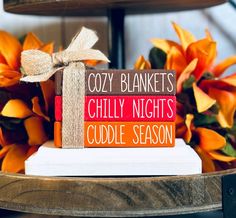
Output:
[[[12,70],[20,68],[20,54],[22,47],[20,42],[11,34],[0,31],[0,53]],[[3,42],[3,43],[2,43]]]

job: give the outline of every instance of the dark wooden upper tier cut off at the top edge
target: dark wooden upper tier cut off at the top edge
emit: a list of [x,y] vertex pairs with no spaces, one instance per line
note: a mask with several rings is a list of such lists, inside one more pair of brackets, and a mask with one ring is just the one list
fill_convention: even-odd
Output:
[[226,0],[4,0],[4,9],[17,14],[94,16],[108,8],[124,8],[128,14],[206,8]]

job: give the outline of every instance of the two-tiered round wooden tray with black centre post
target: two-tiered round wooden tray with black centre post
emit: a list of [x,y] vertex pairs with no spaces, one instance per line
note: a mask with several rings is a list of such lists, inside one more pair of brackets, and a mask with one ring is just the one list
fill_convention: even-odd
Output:
[[[120,40],[123,38],[123,26],[120,25],[123,23],[123,12],[179,11],[224,2],[226,0],[4,0],[4,9],[18,14],[70,16],[105,15],[107,11],[121,9],[118,15],[110,15],[111,27],[116,26],[115,31],[111,28],[110,34],[115,41],[110,47],[116,61],[124,57],[122,52],[116,52],[123,51],[120,46],[123,44]],[[119,40],[120,45],[117,43]],[[114,66],[123,66],[122,61],[118,60]],[[229,201],[231,197],[235,198],[230,183],[224,182],[230,175],[235,176],[236,169],[192,176],[117,178],[37,177],[0,173],[0,208],[38,214],[106,217],[215,211],[222,209],[222,194],[227,195]]]

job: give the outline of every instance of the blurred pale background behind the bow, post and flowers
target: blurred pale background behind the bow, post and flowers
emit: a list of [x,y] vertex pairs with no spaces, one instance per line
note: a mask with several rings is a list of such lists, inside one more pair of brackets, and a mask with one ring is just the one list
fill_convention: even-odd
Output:
[[[0,29],[19,37],[31,31],[45,42],[54,41],[56,46],[65,47],[81,26],[86,26],[97,31],[100,37],[97,47],[107,54],[105,17],[14,15],[4,12],[2,0],[0,2]],[[125,18],[126,68],[133,68],[139,55],[148,56],[152,47],[149,39],[158,37],[177,40],[171,21],[191,31],[197,38],[204,37],[204,31],[208,28],[217,41],[217,60],[236,54],[236,11],[229,3],[204,10],[129,15]],[[228,73],[232,71],[235,72],[236,68],[229,69]]]

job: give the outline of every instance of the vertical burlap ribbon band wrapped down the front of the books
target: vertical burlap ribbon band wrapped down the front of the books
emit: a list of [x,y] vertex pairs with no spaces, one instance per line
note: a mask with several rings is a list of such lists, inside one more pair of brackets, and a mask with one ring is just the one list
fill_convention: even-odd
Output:
[[85,65],[66,67],[62,86],[62,147],[84,148]]

